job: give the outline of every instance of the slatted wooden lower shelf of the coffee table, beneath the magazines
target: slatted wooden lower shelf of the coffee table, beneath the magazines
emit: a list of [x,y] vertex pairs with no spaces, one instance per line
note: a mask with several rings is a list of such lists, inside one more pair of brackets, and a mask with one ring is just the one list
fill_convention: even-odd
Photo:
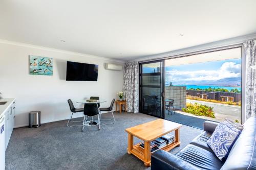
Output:
[[[141,143],[141,142],[140,142]],[[145,161],[145,151],[143,148],[140,147],[140,143],[137,143],[135,145],[133,145],[133,149],[130,151],[131,153],[128,152],[128,154],[133,154],[134,156],[136,156],[137,158],[139,158],[140,160],[142,160],[145,164],[145,166],[151,166],[151,161]],[[160,150],[164,150],[166,152],[174,149],[175,147],[180,145],[180,141],[179,142],[173,142],[170,143],[168,145],[166,145],[165,147],[161,148]],[[127,149],[128,151],[128,149]],[[152,153],[151,153],[152,154]]]

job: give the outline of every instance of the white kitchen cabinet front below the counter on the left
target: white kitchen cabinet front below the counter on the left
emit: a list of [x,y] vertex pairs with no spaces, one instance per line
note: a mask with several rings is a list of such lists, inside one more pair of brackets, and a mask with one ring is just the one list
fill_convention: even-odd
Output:
[[12,135],[12,130],[15,124],[15,101],[11,104],[11,106],[5,112],[5,149],[7,149],[9,140]]

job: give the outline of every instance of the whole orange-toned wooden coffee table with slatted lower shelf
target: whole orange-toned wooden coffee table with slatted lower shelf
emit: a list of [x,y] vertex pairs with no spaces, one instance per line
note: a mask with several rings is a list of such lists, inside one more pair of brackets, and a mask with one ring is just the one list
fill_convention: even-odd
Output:
[[[173,148],[180,145],[180,124],[170,122],[165,119],[157,119],[152,122],[145,124],[137,125],[132,128],[127,128],[125,131],[128,133],[128,148],[127,153],[133,154],[140,160],[144,162],[145,166],[151,165],[151,152],[150,152],[150,143],[152,140],[155,140],[167,133],[175,131],[175,141],[166,145],[166,147],[161,150],[170,151]],[[144,141],[144,149],[139,146],[140,143],[134,145],[133,137]]]

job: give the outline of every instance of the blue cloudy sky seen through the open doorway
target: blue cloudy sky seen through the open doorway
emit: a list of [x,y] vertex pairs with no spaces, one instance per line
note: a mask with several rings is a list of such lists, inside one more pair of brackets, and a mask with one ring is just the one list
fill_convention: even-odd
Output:
[[197,84],[200,81],[240,78],[240,72],[241,59],[168,66],[165,69],[165,83],[186,85]]

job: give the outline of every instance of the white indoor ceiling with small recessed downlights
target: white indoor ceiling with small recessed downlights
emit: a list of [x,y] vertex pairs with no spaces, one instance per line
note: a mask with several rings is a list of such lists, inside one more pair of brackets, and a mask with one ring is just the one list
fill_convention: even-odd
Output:
[[256,33],[255,6],[255,0],[2,0],[0,39],[133,60]]

